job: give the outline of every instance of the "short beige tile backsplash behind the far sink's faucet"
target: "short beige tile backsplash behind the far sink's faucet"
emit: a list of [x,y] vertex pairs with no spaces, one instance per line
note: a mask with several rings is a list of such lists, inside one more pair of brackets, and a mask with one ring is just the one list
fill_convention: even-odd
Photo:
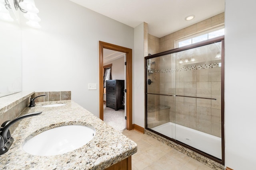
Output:
[[71,91],[62,92],[35,92],[32,98],[40,95],[46,95],[36,98],[35,102],[48,102],[48,101],[58,101],[58,100],[71,100]]

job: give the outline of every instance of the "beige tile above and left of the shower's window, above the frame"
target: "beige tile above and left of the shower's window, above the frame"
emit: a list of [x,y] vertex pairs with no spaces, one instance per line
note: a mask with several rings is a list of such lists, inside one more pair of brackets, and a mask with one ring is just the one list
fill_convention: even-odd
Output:
[[[198,33],[200,31],[204,31],[211,27],[215,27],[218,25],[224,24],[224,13],[213,16],[212,18],[208,18],[204,21],[198,22],[194,25],[166,35],[160,38],[160,46],[159,52],[168,51],[170,49],[175,48],[175,40],[180,39],[182,37],[186,37],[188,35],[192,35],[194,33]],[[151,47],[151,46],[150,46]],[[158,52],[158,53],[159,53]]]

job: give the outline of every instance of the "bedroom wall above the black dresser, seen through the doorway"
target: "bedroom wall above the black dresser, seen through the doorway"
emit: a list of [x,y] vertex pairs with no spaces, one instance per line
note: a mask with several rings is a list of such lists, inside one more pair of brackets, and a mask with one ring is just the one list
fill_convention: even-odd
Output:
[[124,80],[125,75],[124,75],[124,57],[121,57],[119,59],[113,60],[109,63],[104,64],[108,65],[112,64],[112,71],[111,71],[111,76],[112,80]]

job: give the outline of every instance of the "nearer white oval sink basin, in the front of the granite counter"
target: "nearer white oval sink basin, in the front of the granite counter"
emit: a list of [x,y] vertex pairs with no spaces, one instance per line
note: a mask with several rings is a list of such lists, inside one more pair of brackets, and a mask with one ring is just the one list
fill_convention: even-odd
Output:
[[38,156],[64,154],[84,146],[94,135],[93,129],[83,125],[55,127],[28,140],[22,149]]

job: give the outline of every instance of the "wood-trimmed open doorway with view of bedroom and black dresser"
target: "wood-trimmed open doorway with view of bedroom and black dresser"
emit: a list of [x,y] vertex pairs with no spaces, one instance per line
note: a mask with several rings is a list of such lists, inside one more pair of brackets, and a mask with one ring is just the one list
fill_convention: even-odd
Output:
[[[119,53],[121,52],[121,53]],[[115,53],[116,57],[115,59],[111,59],[112,62],[110,61],[110,59],[108,58],[114,58],[114,57],[110,57],[112,56],[112,54]],[[104,59],[105,56],[105,59]],[[109,57],[108,57],[109,56]],[[122,57],[124,56],[124,58],[122,59]],[[116,61],[115,61],[116,60]],[[121,60],[121,62],[118,60]],[[126,62],[126,65],[124,65]],[[118,64],[119,63],[119,64]],[[111,65],[112,64],[112,65]],[[105,66],[105,67],[104,67]],[[110,70],[106,69],[106,68],[110,68]],[[105,72],[104,72],[105,70]],[[107,71],[107,73],[106,73]],[[111,79],[112,80],[108,80],[108,81],[113,81],[116,80],[115,82],[109,83],[109,85],[111,86],[110,90],[108,90],[108,83],[106,81],[106,85],[104,85],[104,73],[106,74],[106,77],[110,77],[111,73]],[[122,81],[117,81],[117,80],[122,80]],[[106,86],[106,90],[104,88],[104,86]],[[115,94],[111,94],[112,96],[108,97],[108,92],[112,92],[114,91],[114,89],[119,90],[119,88],[124,88],[125,92],[122,92],[122,90],[119,90],[118,92],[120,93],[116,93],[115,90]],[[99,109],[100,109],[100,113],[99,113],[99,117],[100,119],[102,119],[103,121],[105,121],[106,116],[104,116],[104,107],[105,110],[109,109],[108,108],[108,104],[103,104],[104,102],[104,90],[106,93],[106,103],[108,103],[108,100],[110,101],[110,106],[112,104],[112,109],[114,109],[114,111],[112,113],[117,113],[118,110],[123,110],[124,111],[124,116],[126,116],[126,119],[124,116],[123,119],[119,122],[122,122],[125,124],[124,129],[126,128],[127,130],[132,130],[132,49],[126,48],[126,47],[122,47],[122,46],[118,46],[118,45],[114,45],[114,44],[110,44],[110,43],[106,43],[106,42],[102,42],[99,41]],[[118,97],[116,96],[116,94],[120,94]],[[122,94],[122,95],[121,95]],[[123,98],[124,95],[124,98]],[[112,101],[111,101],[112,100]],[[114,105],[114,106],[113,106]],[[122,106],[124,105],[124,107]],[[119,107],[118,109],[116,108]],[[111,107],[110,107],[111,108]],[[106,111],[105,111],[106,112]],[[111,115],[111,114],[110,114]],[[113,114],[111,115],[113,117]],[[108,120],[107,120],[108,121]],[[118,120],[112,121],[114,124],[118,125]],[[110,124],[110,123],[109,123]],[[114,125],[112,125],[114,126]],[[123,130],[123,127],[120,126],[120,128],[118,128],[117,130]]]

